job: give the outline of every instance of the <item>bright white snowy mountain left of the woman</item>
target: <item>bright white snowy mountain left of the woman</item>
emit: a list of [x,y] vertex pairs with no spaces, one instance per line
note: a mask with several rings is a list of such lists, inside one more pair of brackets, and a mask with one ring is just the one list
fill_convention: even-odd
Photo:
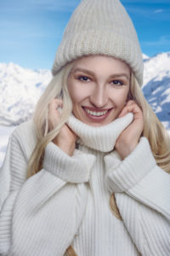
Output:
[[0,125],[19,125],[30,119],[35,103],[50,79],[48,70],[0,63]]

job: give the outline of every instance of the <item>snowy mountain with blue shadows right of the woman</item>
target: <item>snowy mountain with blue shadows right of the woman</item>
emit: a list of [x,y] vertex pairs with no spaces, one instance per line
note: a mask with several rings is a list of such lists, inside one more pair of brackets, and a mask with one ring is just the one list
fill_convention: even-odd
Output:
[[142,89],[157,117],[170,129],[170,52],[144,60]]

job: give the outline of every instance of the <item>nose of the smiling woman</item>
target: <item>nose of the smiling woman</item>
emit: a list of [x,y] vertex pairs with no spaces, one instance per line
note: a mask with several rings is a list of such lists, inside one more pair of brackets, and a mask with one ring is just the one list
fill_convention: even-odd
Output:
[[104,84],[95,86],[93,93],[90,96],[90,102],[95,108],[104,108],[108,102],[108,94]]

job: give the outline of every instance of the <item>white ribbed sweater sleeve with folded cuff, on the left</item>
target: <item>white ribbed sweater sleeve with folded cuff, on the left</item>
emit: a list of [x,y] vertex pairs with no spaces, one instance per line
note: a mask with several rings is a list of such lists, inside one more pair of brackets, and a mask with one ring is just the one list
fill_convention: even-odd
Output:
[[49,143],[42,170],[26,179],[26,150],[16,135],[0,172],[0,254],[63,255],[82,221],[94,156],[76,149],[70,157]]

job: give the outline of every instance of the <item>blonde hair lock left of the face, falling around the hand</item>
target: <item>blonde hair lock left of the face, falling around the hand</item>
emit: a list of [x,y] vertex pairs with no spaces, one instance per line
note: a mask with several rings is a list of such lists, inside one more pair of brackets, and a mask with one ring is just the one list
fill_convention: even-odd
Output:
[[[72,102],[67,90],[67,79],[72,66],[73,63],[69,63],[65,68],[60,69],[59,73],[54,76],[37,102],[33,117],[37,133],[37,145],[34,148],[28,163],[27,177],[31,177],[42,169],[45,147],[59,134],[60,129],[65,125],[65,122],[71,114]],[[48,123],[48,104],[52,99],[59,97],[62,97],[63,99],[61,118],[59,124],[54,130],[51,130]]]

